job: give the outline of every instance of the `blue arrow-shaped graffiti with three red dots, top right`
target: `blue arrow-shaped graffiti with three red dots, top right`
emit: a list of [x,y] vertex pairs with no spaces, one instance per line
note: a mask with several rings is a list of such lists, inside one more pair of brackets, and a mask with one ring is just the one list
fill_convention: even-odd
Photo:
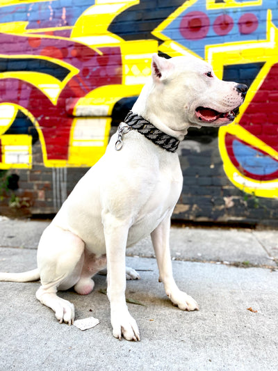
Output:
[[267,13],[272,5],[275,9],[272,22],[278,25],[276,1],[264,1],[261,6],[206,9],[206,0],[198,0],[173,19],[162,33],[204,58],[206,45],[265,40]]

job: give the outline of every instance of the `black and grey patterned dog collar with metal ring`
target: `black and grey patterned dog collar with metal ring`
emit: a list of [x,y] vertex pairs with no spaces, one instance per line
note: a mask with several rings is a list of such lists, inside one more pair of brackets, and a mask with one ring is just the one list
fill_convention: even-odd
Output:
[[115,145],[116,150],[122,148],[122,135],[129,132],[131,129],[136,129],[140,134],[144,135],[147,139],[152,141],[154,144],[159,145],[164,150],[169,152],[176,152],[179,146],[179,140],[161,132],[152,123],[138,116],[136,113],[129,111],[124,119],[124,123],[127,125],[120,125],[118,130],[118,139]]

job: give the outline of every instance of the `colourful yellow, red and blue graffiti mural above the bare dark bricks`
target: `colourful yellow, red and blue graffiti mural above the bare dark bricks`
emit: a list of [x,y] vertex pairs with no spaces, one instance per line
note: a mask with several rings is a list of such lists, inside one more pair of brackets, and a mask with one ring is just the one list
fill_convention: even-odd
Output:
[[278,6],[266,0],[0,1],[0,168],[91,166],[112,113],[136,97],[152,53],[204,58],[250,86],[236,123],[219,130],[229,180],[278,196]]

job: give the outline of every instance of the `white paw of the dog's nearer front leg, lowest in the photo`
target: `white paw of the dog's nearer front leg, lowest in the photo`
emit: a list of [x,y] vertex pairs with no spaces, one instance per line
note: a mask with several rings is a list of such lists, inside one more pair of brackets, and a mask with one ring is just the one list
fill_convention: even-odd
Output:
[[136,320],[131,317],[128,310],[122,310],[122,313],[111,313],[111,324],[115,338],[121,340],[123,336],[126,340],[140,340]]

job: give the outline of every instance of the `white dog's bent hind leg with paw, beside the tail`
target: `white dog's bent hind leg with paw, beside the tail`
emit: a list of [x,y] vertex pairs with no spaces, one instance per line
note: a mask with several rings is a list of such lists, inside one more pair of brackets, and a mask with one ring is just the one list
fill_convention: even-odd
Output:
[[38,247],[38,269],[41,287],[37,299],[54,310],[60,323],[74,322],[74,306],[57,296],[58,290],[67,290],[80,278],[84,260],[84,242],[72,232],[49,226]]

